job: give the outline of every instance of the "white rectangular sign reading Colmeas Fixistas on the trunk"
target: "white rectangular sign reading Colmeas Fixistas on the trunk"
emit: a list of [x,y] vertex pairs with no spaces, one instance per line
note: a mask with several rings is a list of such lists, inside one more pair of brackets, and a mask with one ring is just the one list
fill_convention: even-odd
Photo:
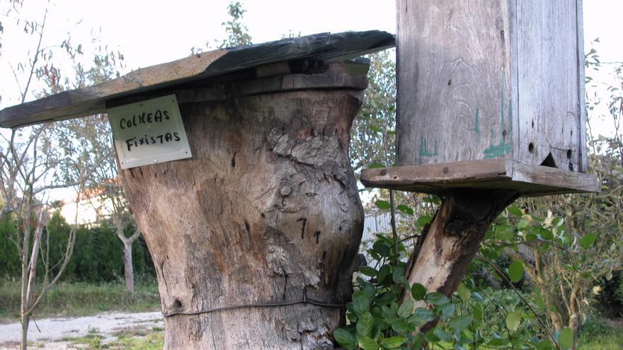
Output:
[[122,169],[191,157],[176,95],[106,112]]

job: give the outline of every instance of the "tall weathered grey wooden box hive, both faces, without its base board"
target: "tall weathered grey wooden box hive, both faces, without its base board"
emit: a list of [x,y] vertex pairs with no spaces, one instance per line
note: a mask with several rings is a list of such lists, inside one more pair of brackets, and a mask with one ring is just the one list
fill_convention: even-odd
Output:
[[587,170],[581,0],[397,1],[398,165]]

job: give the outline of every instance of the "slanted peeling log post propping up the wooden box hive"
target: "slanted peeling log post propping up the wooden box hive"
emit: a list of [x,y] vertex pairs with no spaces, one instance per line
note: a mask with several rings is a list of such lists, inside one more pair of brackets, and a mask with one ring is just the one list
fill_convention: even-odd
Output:
[[[407,279],[452,296],[491,222],[517,199],[516,192],[457,190],[442,200],[409,259]],[[410,298],[404,293],[403,298]],[[433,327],[435,322],[425,325]]]

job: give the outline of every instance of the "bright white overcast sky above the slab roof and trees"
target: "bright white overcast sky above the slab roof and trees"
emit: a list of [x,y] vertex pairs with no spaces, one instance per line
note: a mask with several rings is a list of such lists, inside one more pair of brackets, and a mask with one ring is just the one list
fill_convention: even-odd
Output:
[[[253,42],[278,40],[287,33],[309,35],[346,30],[385,30],[395,33],[395,2],[391,0],[246,0],[244,23]],[[41,21],[47,8],[44,45],[71,37],[88,52],[97,45],[122,52],[122,73],[188,56],[191,47],[223,38],[229,0],[25,0],[20,11],[0,13],[4,25],[0,55],[0,107],[19,102],[13,70],[35,48],[36,42],[16,26],[18,19]],[[0,9],[6,5],[0,6]],[[585,47],[595,45],[605,62],[622,62],[620,13],[623,0],[585,0]],[[23,23],[23,22],[21,22]],[[98,42],[92,42],[98,37]],[[89,57],[88,54],[84,55]],[[88,63],[88,62],[86,62]],[[21,81],[21,85],[24,85]],[[34,96],[29,96],[29,100]]]

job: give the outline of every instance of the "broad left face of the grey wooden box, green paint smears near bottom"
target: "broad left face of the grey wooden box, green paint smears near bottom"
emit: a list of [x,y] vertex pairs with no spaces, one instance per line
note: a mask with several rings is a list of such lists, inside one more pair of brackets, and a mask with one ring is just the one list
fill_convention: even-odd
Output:
[[397,163],[510,157],[508,1],[397,6]]

